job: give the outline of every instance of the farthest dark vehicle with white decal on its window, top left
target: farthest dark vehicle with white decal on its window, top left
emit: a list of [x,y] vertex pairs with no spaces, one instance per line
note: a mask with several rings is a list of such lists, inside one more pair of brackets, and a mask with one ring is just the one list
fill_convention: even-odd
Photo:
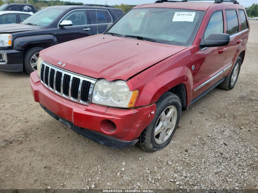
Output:
[[36,13],[37,10],[31,4],[8,3],[0,6],[0,11],[23,11]]

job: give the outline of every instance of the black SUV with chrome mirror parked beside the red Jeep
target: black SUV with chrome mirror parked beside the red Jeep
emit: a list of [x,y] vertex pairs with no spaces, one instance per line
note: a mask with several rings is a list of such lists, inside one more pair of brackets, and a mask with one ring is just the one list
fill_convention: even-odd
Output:
[[103,33],[123,12],[109,5],[51,6],[20,24],[0,28],[0,70],[37,70],[39,52],[66,41]]

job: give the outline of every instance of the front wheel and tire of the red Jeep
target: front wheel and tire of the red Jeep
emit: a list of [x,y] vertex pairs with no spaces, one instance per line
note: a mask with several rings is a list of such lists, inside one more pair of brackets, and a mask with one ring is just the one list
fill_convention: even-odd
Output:
[[[140,140],[137,144],[146,152],[155,152],[166,147],[171,141],[180,120],[182,105],[180,99],[175,94],[166,92],[156,102],[156,106],[157,108],[154,119],[152,120],[151,124],[141,133]],[[165,113],[165,116],[169,116],[169,113],[170,115],[172,114],[171,119],[169,117],[170,121],[162,122],[161,120],[164,120],[162,117],[165,117],[162,113]],[[172,122],[173,124],[171,124]],[[169,127],[171,127],[171,129]],[[156,133],[155,129],[157,130]],[[163,141],[162,136],[165,136]]]

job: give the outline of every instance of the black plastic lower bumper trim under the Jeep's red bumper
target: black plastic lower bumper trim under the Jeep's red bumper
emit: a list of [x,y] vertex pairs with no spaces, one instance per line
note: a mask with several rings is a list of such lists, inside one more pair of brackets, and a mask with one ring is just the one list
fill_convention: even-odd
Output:
[[60,121],[61,123],[63,123],[67,127],[69,127],[70,129],[72,129],[75,132],[77,132],[78,134],[81,134],[82,136],[89,138],[90,140],[100,143],[102,145],[106,145],[111,148],[122,149],[122,148],[128,148],[128,147],[134,146],[136,144],[136,142],[139,140],[139,139],[135,139],[133,141],[122,141],[122,140],[112,138],[110,136],[107,136],[107,135],[104,135],[101,133],[97,133],[97,132],[89,130],[89,129],[75,126],[72,122],[63,119],[62,117],[56,115],[55,113],[52,113],[51,111],[46,109],[43,105],[40,104],[40,106],[49,115],[53,116],[56,120]]

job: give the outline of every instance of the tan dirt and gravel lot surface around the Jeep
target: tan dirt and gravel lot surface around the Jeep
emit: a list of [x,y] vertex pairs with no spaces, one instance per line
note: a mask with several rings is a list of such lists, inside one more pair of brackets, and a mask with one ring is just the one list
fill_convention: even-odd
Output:
[[[258,21],[238,82],[183,112],[162,151],[112,149],[34,102],[29,75],[0,72],[0,189],[258,190]],[[189,190],[188,190],[189,189]]]

